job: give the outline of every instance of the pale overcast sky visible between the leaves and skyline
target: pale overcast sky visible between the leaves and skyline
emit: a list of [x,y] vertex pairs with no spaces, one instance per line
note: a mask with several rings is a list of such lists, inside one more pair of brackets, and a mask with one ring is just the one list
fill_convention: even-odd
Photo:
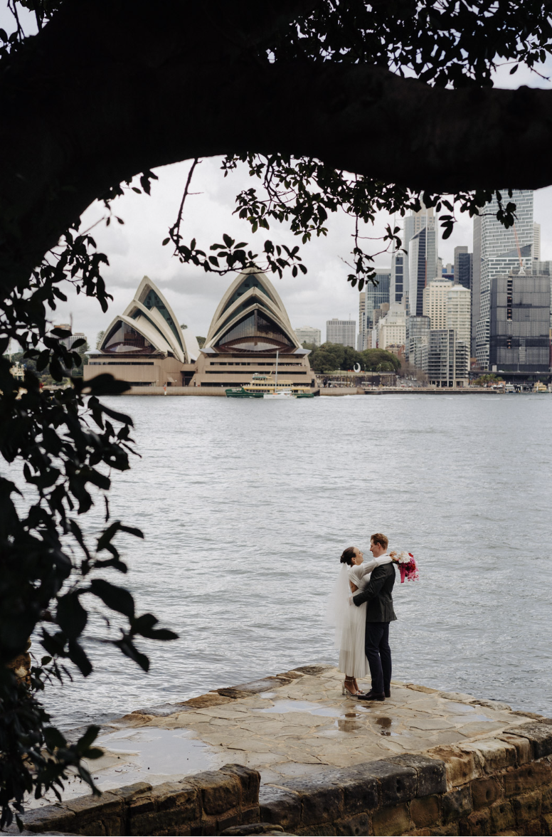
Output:
[[[32,19],[29,27],[32,28]],[[11,27],[11,18],[6,13],[5,4],[0,4],[0,26]],[[540,71],[549,74],[552,66],[540,66]],[[513,76],[509,68],[496,74],[495,85],[498,87],[549,87],[549,82],[540,79],[528,70],[519,69]],[[181,194],[186,183],[189,162],[156,170],[158,181],[153,182],[151,197],[128,192],[114,204],[114,212],[124,218],[124,226],[111,223],[109,228],[100,224],[94,229],[98,248],[108,254],[110,266],[103,275],[108,290],[114,300],[107,314],[104,314],[95,300],[84,295],[77,296],[69,289],[67,304],[60,304],[52,314],[55,323],[73,322],[74,331],[84,331],[90,347],[95,347],[95,336],[105,330],[114,316],[128,305],[141,278],[147,275],[159,285],[171,303],[177,318],[186,323],[196,335],[207,335],[212,315],[222,293],[232,282],[233,275],[217,276],[205,274],[195,267],[182,265],[171,257],[170,246],[162,247],[167,229],[176,218]],[[192,182],[192,192],[199,193],[187,199],[182,233],[189,242],[197,239],[197,244],[207,250],[209,244],[222,241],[222,233],[233,238],[247,241],[253,252],[263,249],[266,238],[285,244],[300,244],[299,239],[275,225],[266,230],[250,234],[248,224],[233,216],[236,194],[244,187],[254,185],[256,179],[248,177],[246,170],[233,172],[223,177],[220,161],[207,159],[197,167]],[[83,216],[82,229],[86,229],[101,217],[102,208],[90,207]],[[539,190],[534,195],[534,220],[541,224],[541,259],[552,259],[552,187]],[[380,213],[373,227],[367,227],[363,234],[382,235],[390,218]],[[400,219],[397,218],[400,223]],[[326,238],[314,239],[301,248],[307,275],[296,279],[291,271],[284,273],[284,279],[273,278],[273,282],[284,300],[293,326],[314,326],[322,331],[325,339],[325,321],[331,317],[348,318],[358,321],[358,290],[346,281],[349,272],[342,259],[348,259],[351,242],[352,222],[344,213],[330,217],[329,234]],[[366,242],[365,244],[370,244]],[[372,242],[375,249],[380,249],[377,242]],[[467,244],[473,249],[473,222],[464,216],[456,224],[454,232],[447,241],[439,241],[439,255],[443,262],[453,261],[453,251],[457,244]],[[384,254],[376,259],[376,266],[386,267],[391,264],[391,256]],[[272,278],[272,276],[271,276]]]

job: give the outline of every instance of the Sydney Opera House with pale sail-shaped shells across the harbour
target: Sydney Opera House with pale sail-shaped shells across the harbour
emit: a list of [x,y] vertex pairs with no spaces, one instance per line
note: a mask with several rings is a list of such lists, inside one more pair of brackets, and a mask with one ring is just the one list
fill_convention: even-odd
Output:
[[309,351],[299,344],[284,303],[262,272],[245,270],[233,281],[201,349],[145,276],[98,349],[89,352],[84,378],[110,372],[132,387],[236,387],[248,383],[254,372],[274,372],[276,352],[279,376],[314,387]]

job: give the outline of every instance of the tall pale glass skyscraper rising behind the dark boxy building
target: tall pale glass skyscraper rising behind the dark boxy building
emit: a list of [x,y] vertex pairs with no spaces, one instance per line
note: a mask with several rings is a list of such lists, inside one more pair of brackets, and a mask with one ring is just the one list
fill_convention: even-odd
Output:
[[509,199],[516,204],[515,227],[506,229],[498,221],[496,197],[473,219],[472,351],[475,337],[475,356],[483,369],[489,363],[491,280],[519,270],[520,264],[529,270],[533,261],[533,192],[514,189]]

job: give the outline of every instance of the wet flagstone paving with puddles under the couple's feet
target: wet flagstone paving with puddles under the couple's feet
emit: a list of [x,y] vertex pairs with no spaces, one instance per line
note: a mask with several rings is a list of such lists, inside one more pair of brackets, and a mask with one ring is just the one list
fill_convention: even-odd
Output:
[[[372,759],[467,742],[531,719],[498,701],[401,683],[391,699],[341,695],[333,667],[304,666],[181,704],[130,713],[103,728],[105,755],[90,763],[102,789],[162,783],[227,763],[260,771],[263,783]],[[367,684],[365,684],[367,686]],[[64,796],[87,793],[79,780]]]

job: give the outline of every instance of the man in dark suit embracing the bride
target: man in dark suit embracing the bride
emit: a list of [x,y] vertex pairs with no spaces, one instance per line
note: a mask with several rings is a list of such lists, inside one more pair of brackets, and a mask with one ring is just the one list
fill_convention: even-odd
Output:
[[[372,535],[370,551],[375,558],[381,557],[389,541],[379,532]],[[370,665],[371,691],[359,695],[360,701],[385,701],[391,697],[391,648],[389,647],[389,623],[395,621],[391,590],[395,583],[393,563],[381,564],[371,574],[369,583],[361,593],[353,596],[358,608],[366,605],[365,653]]]

